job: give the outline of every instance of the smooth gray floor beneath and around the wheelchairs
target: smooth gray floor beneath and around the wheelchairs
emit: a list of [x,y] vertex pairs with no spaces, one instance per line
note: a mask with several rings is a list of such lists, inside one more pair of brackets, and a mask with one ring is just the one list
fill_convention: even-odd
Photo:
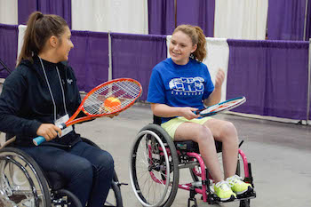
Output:
[[[215,115],[215,118],[235,123],[241,147],[252,164],[257,198],[251,206],[311,206],[311,126],[277,123],[237,115]],[[133,139],[140,129],[150,123],[148,105],[138,104],[119,116],[100,118],[92,123],[76,125],[76,131],[107,149],[115,158],[116,171],[122,182],[129,180],[129,155]],[[181,177],[187,179],[187,171]],[[122,187],[125,207],[140,206],[132,187]],[[178,191],[172,206],[187,206],[188,192]],[[199,206],[208,206],[196,198]],[[226,203],[220,206],[238,206]]]

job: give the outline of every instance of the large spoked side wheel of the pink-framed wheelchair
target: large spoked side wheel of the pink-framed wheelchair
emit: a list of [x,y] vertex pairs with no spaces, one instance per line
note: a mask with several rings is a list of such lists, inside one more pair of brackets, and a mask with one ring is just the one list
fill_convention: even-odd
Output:
[[179,185],[178,155],[163,128],[148,124],[137,135],[130,156],[130,179],[143,206],[171,206]]

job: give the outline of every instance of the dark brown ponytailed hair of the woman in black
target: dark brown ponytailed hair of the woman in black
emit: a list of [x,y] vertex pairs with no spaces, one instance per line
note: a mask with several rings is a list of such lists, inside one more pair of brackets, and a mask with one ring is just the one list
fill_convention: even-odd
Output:
[[24,43],[21,47],[17,65],[21,60],[30,60],[44,48],[44,44],[51,36],[58,38],[65,32],[68,24],[58,15],[33,12],[29,15]]

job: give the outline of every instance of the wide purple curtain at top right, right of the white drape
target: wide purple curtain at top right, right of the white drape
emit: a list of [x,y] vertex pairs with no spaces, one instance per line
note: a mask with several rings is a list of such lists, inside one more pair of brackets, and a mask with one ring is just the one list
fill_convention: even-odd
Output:
[[270,40],[303,40],[306,0],[273,0],[268,2],[267,38]]

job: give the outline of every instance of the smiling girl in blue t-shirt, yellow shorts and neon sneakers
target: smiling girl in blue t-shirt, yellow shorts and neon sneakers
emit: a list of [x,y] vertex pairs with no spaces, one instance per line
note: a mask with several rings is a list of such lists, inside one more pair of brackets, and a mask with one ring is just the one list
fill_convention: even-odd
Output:
[[[251,185],[235,175],[238,138],[235,126],[227,121],[201,118],[194,111],[219,103],[225,74],[219,69],[215,85],[206,65],[203,30],[191,25],[175,28],[169,46],[170,59],[153,68],[148,101],[154,115],[162,117],[162,127],[176,141],[193,140],[215,180],[221,201],[251,191]],[[222,142],[224,175],[216,153],[215,140]]]

